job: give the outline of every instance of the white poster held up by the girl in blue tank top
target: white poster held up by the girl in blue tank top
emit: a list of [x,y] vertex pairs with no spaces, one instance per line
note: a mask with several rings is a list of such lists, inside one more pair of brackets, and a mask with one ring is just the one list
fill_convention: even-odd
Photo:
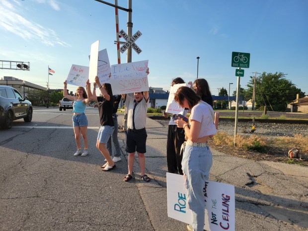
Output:
[[67,77],[67,83],[85,87],[85,82],[89,77],[89,67],[73,64]]

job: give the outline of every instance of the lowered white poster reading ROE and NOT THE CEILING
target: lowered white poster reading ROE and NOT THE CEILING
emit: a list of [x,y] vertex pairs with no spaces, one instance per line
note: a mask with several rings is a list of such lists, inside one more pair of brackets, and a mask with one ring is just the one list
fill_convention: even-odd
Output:
[[[205,224],[208,231],[235,231],[234,185],[215,181],[205,183]],[[184,177],[167,172],[168,217],[191,224],[191,210],[187,208]]]

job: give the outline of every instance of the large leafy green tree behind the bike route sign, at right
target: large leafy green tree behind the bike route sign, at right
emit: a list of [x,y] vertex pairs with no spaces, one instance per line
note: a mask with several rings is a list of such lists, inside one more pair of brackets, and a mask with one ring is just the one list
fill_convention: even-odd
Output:
[[[261,76],[256,77],[255,86],[255,105],[256,108],[268,106],[272,111],[285,111],[287,104],[296,98],[296,94],[300,97],[305,96],[300,88],[297,88],[291,80],[285,78],[284,73],[275,74],[263,72]],[[246,95],[253,92],[254,77],[250,77],[247,84],[248,89]]]

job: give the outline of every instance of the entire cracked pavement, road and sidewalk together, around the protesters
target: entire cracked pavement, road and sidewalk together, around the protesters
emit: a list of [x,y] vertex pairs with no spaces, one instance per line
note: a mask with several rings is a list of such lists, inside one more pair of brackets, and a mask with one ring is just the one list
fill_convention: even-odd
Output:
[[[0,130],[1,231],[186,230],[167,217],[166,127],[147,119],[146,166],[153,180],[141,181],[135,162],[136,179],[124,182],[125,133],[119,133],[122,160],[102,172],[104,158],[95,149],[97,108],[87,109],[89,156],[73,156],[71,117],[71,111],[36,109],[31,123],[15,121],[11,130]],[[308,229],[307,167],[215,150],[213,158],[210,180],[235,186],[236,231]]]

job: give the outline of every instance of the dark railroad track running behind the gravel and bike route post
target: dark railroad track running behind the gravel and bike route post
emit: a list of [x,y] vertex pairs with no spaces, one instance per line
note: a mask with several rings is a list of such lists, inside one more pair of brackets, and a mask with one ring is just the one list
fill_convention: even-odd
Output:
[[[169,120],[169,118],[165,118],[163,116],[148,116],[148,117],[154,120]],[[234,118],[219,118],[219,120],[234,122]],[[254,121],[258,123],[268,123],[268,124],[308,124],[308,120],[255,119]],[[252,119],[238,119],[238,122],[252,122]]]

